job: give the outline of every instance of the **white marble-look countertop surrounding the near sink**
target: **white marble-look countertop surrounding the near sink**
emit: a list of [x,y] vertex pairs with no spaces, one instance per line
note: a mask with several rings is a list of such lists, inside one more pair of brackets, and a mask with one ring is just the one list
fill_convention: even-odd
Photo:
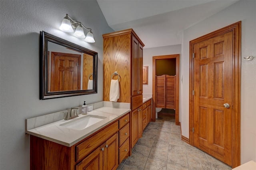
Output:
[[76,119],[86,116],[80,114],[79,117],[68,121],[62,119],[40,127],[26,129],[26,133],[70,147],[79,142],[80,140],[86,138],[90,134],[96,132],[100,128],[103,128],[104,126],[117,120],[119,117],[122,117],[128,112],[130,112],[130,109],[100,107],[98,109],[88,112],[87,115],[97,115],[107,118],[83,130],[75,130],[60,126],[63,123],[74,121]]

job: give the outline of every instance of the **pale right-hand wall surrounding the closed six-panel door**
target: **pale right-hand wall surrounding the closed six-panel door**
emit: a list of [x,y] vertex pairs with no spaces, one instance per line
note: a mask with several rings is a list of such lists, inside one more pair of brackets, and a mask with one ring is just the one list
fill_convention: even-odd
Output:
[[[241,46],[241,163],[256,161],[256,1],[241,0],[184,30],[182,43],[182,135],[189,137],[189,42],[242,21]],[[252,61],[243,57],[253,55]],[[235,127],[234,127],[235,128]]]

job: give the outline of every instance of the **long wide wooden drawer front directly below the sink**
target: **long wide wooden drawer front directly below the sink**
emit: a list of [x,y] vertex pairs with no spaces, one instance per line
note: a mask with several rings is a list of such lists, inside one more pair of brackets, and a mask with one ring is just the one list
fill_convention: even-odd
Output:
[[76,146],[76,161],[84,158],[118,131],[118,121]]

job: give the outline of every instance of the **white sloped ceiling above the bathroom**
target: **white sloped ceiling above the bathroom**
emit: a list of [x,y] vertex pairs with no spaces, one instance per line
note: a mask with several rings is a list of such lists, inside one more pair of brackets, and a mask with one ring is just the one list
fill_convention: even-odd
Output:
[[114,30],[132,28],[144,48],[182,43],[183,30],[238,0],[97,0]]

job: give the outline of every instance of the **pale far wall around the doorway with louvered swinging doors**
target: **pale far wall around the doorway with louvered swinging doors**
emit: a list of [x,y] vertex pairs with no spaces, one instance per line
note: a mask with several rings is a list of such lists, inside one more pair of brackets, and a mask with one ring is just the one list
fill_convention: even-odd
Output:
[[[143,85],[143,93],[152,95],[153,83],[153,56],[172,55],[181,53],[181,44],[164,47],[144,48],[143,49],[143,66],[148,66],[148,84]],[[181,78],[180,78],[181,79]]]

